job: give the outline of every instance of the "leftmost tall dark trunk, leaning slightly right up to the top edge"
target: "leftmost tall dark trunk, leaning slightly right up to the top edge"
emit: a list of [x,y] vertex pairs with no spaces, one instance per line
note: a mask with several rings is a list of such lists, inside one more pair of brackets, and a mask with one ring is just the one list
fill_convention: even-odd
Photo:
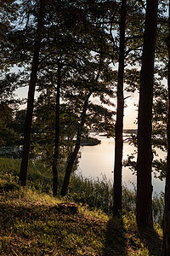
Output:
[[39,54],[41,49],[42,41],[42,22],[43,22],[43,13],[44,13],[43,0],[40,1],[39,15],[37,20],[37,34],[36,41],[34,46],[34,55],[31,65],[31,79],[28,90],[28,99],[27,99],[27,111],[26,111],[26,120],[24,127],[24,144],[23,144],[23,156],[20,166],[20,177],[19,183],[21,186],[26,186],[26,177],[27,177],[27,168],[28,160],[30,153],[30,143],[31,143],[31,121],[33,114],[33,104],[34,104],[34,94],[37,83],[37,70],[39,64]]

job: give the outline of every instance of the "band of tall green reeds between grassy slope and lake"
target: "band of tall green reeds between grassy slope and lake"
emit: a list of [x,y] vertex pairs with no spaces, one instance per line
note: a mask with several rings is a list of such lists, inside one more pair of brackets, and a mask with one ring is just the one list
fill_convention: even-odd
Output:
[[[20,160],[0,158],[0,178],[5,178],[7,183],[18,182],[20,172]],[[59,189],[61,188],[65,174],[65,167],[59,169]],[[52,195],[53,173],[51,168],[41,162],[32,160],[29,163],[27,187],[39,192]],[[66,201],[75,201],[87,206],[89,210],[100,209],[111,214],[113,204],[113,186],[105,176],[101,180],[89,179],[73,172],[71,174],[71,185]],[[122,208],[125,212],[134,212],[136,202],[136,189],[122,189]],[[154,221],[161,224],[164,207],[162,195],[153,196]]]

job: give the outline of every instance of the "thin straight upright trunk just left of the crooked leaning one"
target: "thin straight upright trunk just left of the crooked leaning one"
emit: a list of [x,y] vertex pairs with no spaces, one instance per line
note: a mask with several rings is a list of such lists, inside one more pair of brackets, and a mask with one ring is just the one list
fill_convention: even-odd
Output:
[[59,159],[59,92],[60,92],[60,62],[58,60],[58,78],[57,78],[57,96],[56,96],[56,109],[55,109],[55,143],[54,143],[54,160],[53,160],[53,194],[57,195],[58,190],[58,159]]

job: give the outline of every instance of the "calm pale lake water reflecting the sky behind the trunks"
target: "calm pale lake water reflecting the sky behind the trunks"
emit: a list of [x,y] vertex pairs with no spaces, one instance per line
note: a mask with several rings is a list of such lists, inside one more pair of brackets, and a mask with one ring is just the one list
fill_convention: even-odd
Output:
[[[94,134],[90,135],[91,137]],[[113,138],[104,136],[96,136],[101,143],[97,146],[83,146],[81,147],[81,158],[79,162],[78,172],[82,173],[84,177],[101,178],[105,175],[113,181],[114,169],[114,151],[115,143]],[[133,146],[124,143],[123,146],[123,160],[127,159],[127,154],[133,153]],[[164,158],[165,153],[158,152],[159,157]],[[133,184],[136,185],[136,175],[127,167],[122,168],[122,182],[127,185],[128,189],[133,189]],[[165,182],[158,178],[152,178],[154,192],[160,193],[164,191]]]

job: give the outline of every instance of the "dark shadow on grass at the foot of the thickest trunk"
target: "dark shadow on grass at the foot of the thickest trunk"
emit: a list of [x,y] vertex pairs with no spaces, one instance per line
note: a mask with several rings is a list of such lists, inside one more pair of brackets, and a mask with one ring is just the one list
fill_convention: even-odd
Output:
[[161,255],[161,238],[155,230],[138,226],[140,241],[147,247],[150,255]]

